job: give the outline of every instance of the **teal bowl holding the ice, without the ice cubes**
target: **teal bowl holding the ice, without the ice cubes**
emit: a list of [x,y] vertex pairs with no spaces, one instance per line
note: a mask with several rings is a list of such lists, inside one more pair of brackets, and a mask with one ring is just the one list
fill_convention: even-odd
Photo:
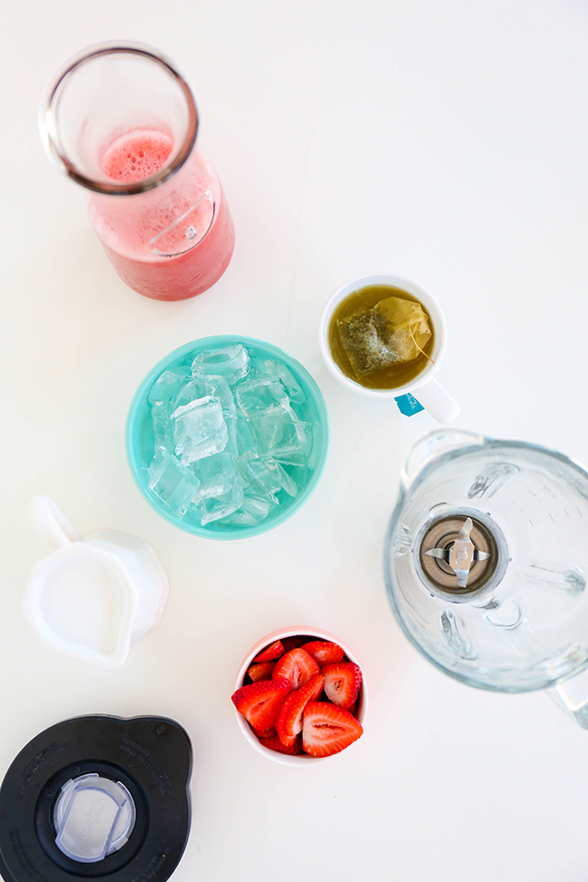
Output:
[[[301,419],[319,426],[313,441],[312,453],[315,465],[312,468],[305,469],[307,475],[305,475],[303,485],[299,484],[298,495],[294,497],[287,496],[285,499],[280,500],[279,507],[274,512],[270,511],[270,514],[260,524],[236,525],[221,524],[220,521],[213,521],[210,524],[202,525],[198,511],[194,506],[191,506],[186,514],[181,517],[171,511],[171,508],[165,505],[148,485],[149,466],[152,463],[155,445],[151,406],[148,403],[147,396],[153,383],[164,370],[191,365],[193,359],[203,349],[233,346],[239,343],[248,350],[251,358],[272,358],[275,361],[282,362],[298,381],[299,386],[304,392],[305,402],[297,404],[296,412]],[[263,340],[233,335],[204,337],[200,340],[193,340],[191,343],[186,343],[185,346],[174,349],[173,352],[162,358],[149,371],[143,379],[141,386],[135,392],[131,407],[129,408],[125,432],[126,454],[131,474],[135,484],[149,505],[152,506],[158,515],[162,515],[166,521],[179,527],[185,533],[203,536],[207,539],[246,539],[250,536],[258,536],[273,530],[274,527],[283,524],[289,517],[295,515],[299,508],[307,502],[309,496],[319,484],[327,462],[328,438],[327,405],[316,381],[310,376],[309,371],[303,368],[295,358],[292,358],[277,346],[272,346]],[[287,471],[289,470],[289,466],[284,467]]]

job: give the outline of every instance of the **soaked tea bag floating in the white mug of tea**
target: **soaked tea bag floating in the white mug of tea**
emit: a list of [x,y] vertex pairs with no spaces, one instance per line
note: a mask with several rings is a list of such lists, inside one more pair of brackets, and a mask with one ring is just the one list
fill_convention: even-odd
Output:
[[387,297],[372,309],[338,319],[337,327],[358,377],[412,361],[431,338],[426,312],[416,300]]

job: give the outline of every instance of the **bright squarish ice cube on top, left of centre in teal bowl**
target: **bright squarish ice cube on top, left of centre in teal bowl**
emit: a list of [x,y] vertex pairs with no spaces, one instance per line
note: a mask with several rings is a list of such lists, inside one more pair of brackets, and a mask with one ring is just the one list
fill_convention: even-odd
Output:
[[181,458],[182,466],[221,453],[227,445],[229,435],[218,398],[198,398],[178,407],[171,417],[175,420],[174,453]]

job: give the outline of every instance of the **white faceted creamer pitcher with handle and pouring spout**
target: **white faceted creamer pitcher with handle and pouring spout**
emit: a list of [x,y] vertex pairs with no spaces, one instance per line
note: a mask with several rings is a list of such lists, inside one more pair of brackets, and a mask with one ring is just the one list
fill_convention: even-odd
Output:
[[102,531],[83,538],[48,496],[28,505],[49,547],[31,571],[25,612],[56,652],[118,668],[132,642],[159,624],[168,580],[151,545]]

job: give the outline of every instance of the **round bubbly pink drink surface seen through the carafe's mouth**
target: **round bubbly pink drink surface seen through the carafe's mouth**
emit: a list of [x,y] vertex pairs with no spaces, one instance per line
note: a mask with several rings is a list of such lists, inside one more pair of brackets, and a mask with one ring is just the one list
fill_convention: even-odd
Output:
[[165,132],[135,129],[110,145],[103,155],[101,170],[113,181],[142,181],[162,168],[172,147],[173,142]]

